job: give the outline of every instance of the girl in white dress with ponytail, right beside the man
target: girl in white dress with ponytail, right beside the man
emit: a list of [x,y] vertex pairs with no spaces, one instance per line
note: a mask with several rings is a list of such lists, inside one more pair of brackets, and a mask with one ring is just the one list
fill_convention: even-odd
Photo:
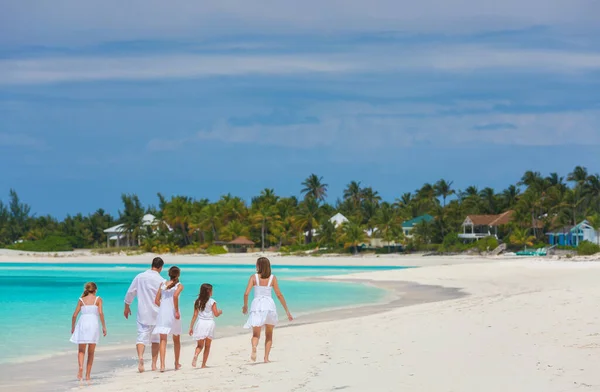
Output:
[[175,351],[175,370],[181,369],[179,354],[181,353],[181,315],[179,314],[179,295],[183,285],[179,283],[181,270],[178,267],[169,268],[168,282],[163,283],[156,293],[158,317],[153,333],[160,335],[160,371],[165,371],[165,356],[167,355],[167,337],[173,335]]

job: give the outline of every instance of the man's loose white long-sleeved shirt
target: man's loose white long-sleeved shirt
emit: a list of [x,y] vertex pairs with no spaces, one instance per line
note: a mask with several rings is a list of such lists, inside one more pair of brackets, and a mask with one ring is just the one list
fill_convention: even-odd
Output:
[[156,325],[156,317],[158,316],[158,306],[154,303],[156,293],[165,279],[160,274],[153,270],[148,270],[138,274],[127,294],[125,295],[125,303],[131,305],[133,299],[138,297],[138,314],[137,321],[144,325]]

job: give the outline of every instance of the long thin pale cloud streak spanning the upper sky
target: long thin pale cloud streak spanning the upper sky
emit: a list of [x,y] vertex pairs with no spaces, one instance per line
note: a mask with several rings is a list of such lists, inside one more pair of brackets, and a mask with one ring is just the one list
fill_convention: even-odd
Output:
[[[393,50],[390,50],[393,49]],[[332,54],[146,55],[0,60],[0,84],[151,80],[239,75],[344,75],[376,72],[525,71],[573,73],[600,69],[600,53],[437,46],[376,47]]]

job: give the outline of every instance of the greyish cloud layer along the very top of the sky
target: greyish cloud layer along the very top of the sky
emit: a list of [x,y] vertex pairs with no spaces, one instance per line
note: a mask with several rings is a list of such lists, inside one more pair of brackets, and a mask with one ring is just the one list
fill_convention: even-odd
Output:
[[0,44],[356,31],[597,28],[595,0],[5,0]]

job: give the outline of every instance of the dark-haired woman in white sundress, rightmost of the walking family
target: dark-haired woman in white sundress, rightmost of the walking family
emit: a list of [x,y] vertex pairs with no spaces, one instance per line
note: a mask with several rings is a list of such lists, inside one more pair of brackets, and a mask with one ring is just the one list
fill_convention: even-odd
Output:
[[261,328],[265,327],[265,363],[269,362],[269,353],[271,352],[271,346],[273,345],[273,329],[277,324],[277,308],[275,307],[275,301],[271,292],[274,290],[275,295],[279,298],[279,302],[285,309],[287,318],[292,321],[292,314],[290,313],[285,298],[281,290],[279,290],[279,283],[277,278],[271,274],[271,262],[266,257],[260,257],[256,261],[256,275],[252,275],[248,280],[248,286],[246,286],[246,292],[244,293],[244,307],[242,312],[248,314],[248,296],[250,291],[254,288],[254,299],[250,306],[250,315],[248,321],[244,325],[244,328],[252,328],[252,354],[250,359],[256,361],[256,347],[260,340]]

